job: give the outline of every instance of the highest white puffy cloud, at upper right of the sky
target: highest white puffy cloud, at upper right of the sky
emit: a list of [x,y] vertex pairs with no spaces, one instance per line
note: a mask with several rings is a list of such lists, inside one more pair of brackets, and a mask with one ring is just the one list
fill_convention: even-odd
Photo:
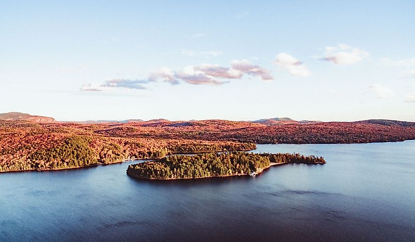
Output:
[[353,48],[345,44],[326,47],[324,57],[321,60],[331,61],[337,65],[350,65],[367,58],[369,53],[358,48]]

